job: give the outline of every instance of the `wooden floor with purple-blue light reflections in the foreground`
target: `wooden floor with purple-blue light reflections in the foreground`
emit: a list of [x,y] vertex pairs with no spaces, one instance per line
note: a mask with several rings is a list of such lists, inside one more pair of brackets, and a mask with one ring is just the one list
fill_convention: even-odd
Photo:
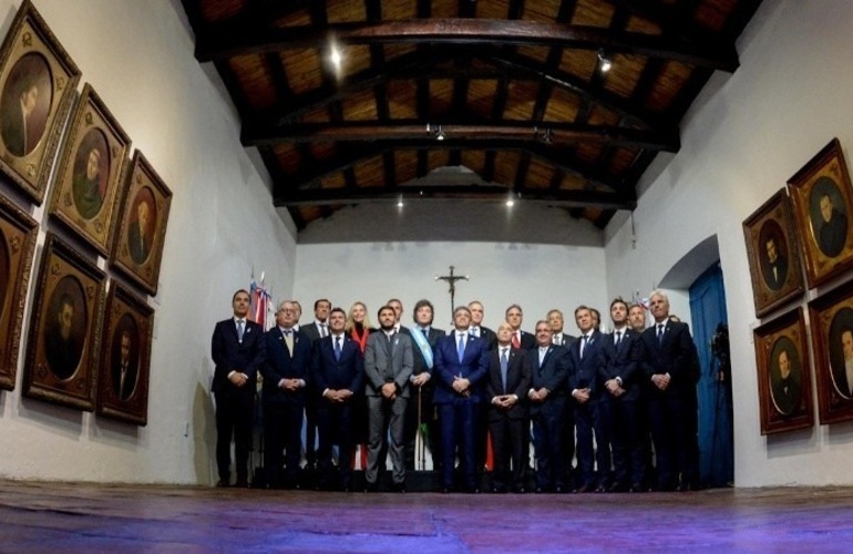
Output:
[[319,493],[0,481],[1,552],[851,552],[853,489]]

